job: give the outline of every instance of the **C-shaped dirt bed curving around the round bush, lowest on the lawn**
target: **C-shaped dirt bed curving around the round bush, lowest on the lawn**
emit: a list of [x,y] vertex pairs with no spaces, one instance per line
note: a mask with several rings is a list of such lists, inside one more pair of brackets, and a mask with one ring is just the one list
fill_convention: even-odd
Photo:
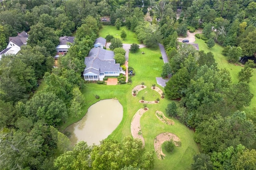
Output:
[[[176,136],[173,133],[169,133],[169,132],[164,132],[161,134],[158,134],[156,136],[156,138],[154,139],[154,148],[155,148],[155,152],[156,152],[156,156],[158,157],[158,159],[163,159],[165,154],[162,152],[162,144],[165,141],[168,140],[173,140],[174,142],[180,142],[180,138],[178,138],[178,136]],[[178,144],[175,144],[176,146],[178,146]]]

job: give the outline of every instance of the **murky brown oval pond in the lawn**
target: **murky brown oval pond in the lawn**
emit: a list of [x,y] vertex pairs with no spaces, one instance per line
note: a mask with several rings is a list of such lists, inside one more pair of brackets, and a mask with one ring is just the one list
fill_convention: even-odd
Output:
[[65,129],[70,132],[74,145],[84,140],[88,145],[100,144],[119,125],[123,117],[123,107],[118,100],[105,99],[88,108],[86,115]]

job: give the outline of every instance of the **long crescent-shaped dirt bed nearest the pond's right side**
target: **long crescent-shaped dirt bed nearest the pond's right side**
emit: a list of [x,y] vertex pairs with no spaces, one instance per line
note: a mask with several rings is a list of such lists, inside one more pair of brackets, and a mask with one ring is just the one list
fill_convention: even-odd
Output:
[[142,136],[142,131],[140,128],[140,118],[142,117],[142,115],[148,111],[148,108],[146,108],[147,110],[144,110],[144,108],[139,109],[134,117],[132,118],[132,122],[131,122],[131,132],[132,132],[132,137],[133,138],[139,138],[142,140],[143,146],[145,145],[145,141],[144,138]]

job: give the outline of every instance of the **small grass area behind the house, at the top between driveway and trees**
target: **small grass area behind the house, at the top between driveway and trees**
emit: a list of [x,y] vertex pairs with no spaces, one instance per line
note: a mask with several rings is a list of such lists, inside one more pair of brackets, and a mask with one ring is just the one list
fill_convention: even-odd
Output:
[[[120,37],[122,29],[124,29],[127,35],[124,40],[122,40],[122,38]],[[115,26],[102,26],[102,29],[100,29],[99,32],[99,36],[106,38],[108,34],[114,36],[115,38],[120,38],[123,43],[140,43],[137,40],[135,32],[128,30],[125,26],[122,26],[120,30],[117,30]]]

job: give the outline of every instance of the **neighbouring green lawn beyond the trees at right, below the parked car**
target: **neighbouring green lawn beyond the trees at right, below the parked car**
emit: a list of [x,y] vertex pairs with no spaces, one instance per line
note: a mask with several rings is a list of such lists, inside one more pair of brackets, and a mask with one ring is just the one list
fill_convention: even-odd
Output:
[[[241,63],[238,63],[239,65],[235,65],[234,63],[228,63],[227,58],[222,55],[223,47],[221,45],[218,45],[215,43],[215,46],[211,49],[204,43],[204,40],[196,38],[196,42],[198,43],[199,50],[204,50],[206,52],[211,51],[214,54],[214,58],[216,62],[218,63],[219,68],[227,68],[230,71],[232,83],[238,82],[238,72],[243,68],[240,66]],[[243,107],[240,108],[240,110],[246,111],[246,115],[256,121],[256,69],[254,69],[251,77],[250,82],[250,90],[254,94],[254,97],[252,98],[251,104],[249,107]]]

